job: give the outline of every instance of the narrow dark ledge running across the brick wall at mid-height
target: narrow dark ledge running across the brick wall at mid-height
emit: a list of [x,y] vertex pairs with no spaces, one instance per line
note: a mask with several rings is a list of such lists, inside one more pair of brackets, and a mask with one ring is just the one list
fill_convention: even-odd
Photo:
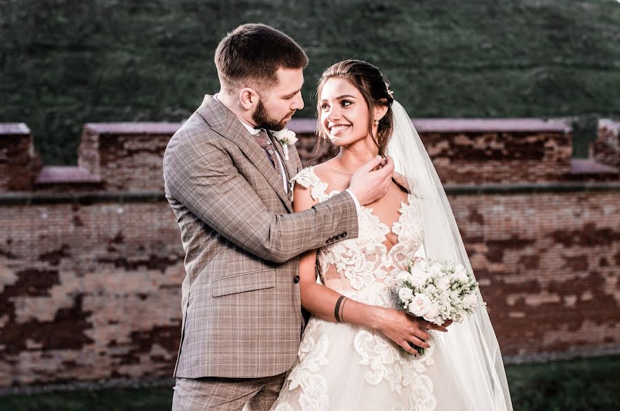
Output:
[[[446,184],[447,195],[517,195],[570,192],[620,192],[620,183],[578,181],[574,183],[539,184]],[[0,206],[30,206],[32,204],[56,203],[141,203],[166,201],[163,191],[134,192],[3,192],[0,193]]]

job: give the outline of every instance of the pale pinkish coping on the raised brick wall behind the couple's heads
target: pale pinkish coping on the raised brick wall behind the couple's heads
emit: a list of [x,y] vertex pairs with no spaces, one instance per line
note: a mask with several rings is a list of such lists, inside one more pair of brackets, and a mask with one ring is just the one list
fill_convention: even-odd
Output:
[[[535,132],[569,133],[572,128],[559,120],[538,118],[419,118],[412,119],[420,133]],[[183,123],[115,122],[86,123],[84,129],[98,134],[174,134]],[[316,133],[316,119],[294,118],[289,129],[300,134]]]

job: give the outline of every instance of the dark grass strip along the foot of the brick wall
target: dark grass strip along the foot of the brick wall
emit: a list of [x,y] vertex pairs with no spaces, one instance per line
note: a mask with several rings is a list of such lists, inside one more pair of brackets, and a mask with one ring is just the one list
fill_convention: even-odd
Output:
[[[612,411],[620,403],[620,357],[511,365],[506,375],[515,411]],[[2,397],[0,411],[163,411],[171,404],[171,388],[110,389]]]

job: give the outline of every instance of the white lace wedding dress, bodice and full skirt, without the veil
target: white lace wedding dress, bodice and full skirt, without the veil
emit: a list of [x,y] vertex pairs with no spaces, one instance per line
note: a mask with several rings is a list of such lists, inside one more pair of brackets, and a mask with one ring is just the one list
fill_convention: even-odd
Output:
[[[312,167],[293,181],[325,201],[327,193]],[[359,236],[318,250],[320,281],[352,300],[396,308],[391,280],[419,252],[423,230],[415,197],[400,204],[388,227],[362,207]],[[392,245],[387,235],[397,236]],[[298,360],[291,369],[276,411],[457,411],[465,410],[441,346],[429,331],[431,348],[413,357],[380,331],[312,317],[304,330]],[[448,327],[449,333],[449,327]]]

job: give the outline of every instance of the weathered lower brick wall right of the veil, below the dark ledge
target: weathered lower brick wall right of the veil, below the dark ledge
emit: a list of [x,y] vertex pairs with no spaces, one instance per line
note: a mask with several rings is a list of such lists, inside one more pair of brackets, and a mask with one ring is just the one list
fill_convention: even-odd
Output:
[[451,198],[502,353],[620,344],[620,192]]

